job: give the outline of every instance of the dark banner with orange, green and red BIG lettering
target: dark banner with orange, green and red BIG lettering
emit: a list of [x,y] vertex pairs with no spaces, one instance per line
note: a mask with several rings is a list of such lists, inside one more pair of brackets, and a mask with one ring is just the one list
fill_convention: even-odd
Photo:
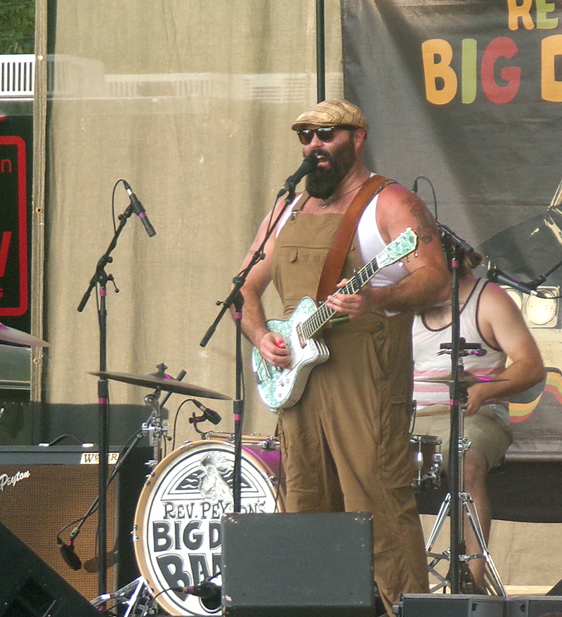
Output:
[[562,2],[341,0],[341,15],[345,96],[370,121],[367,165],[417,186],[438,220],[483,253],[477,274],[546,275],[540,290],[549,300],[511,292],[549,367],[540,392],[511,405],[511,418],[533,414],[537,423],[536,439],[514,447],[554,452],[562,437]]

